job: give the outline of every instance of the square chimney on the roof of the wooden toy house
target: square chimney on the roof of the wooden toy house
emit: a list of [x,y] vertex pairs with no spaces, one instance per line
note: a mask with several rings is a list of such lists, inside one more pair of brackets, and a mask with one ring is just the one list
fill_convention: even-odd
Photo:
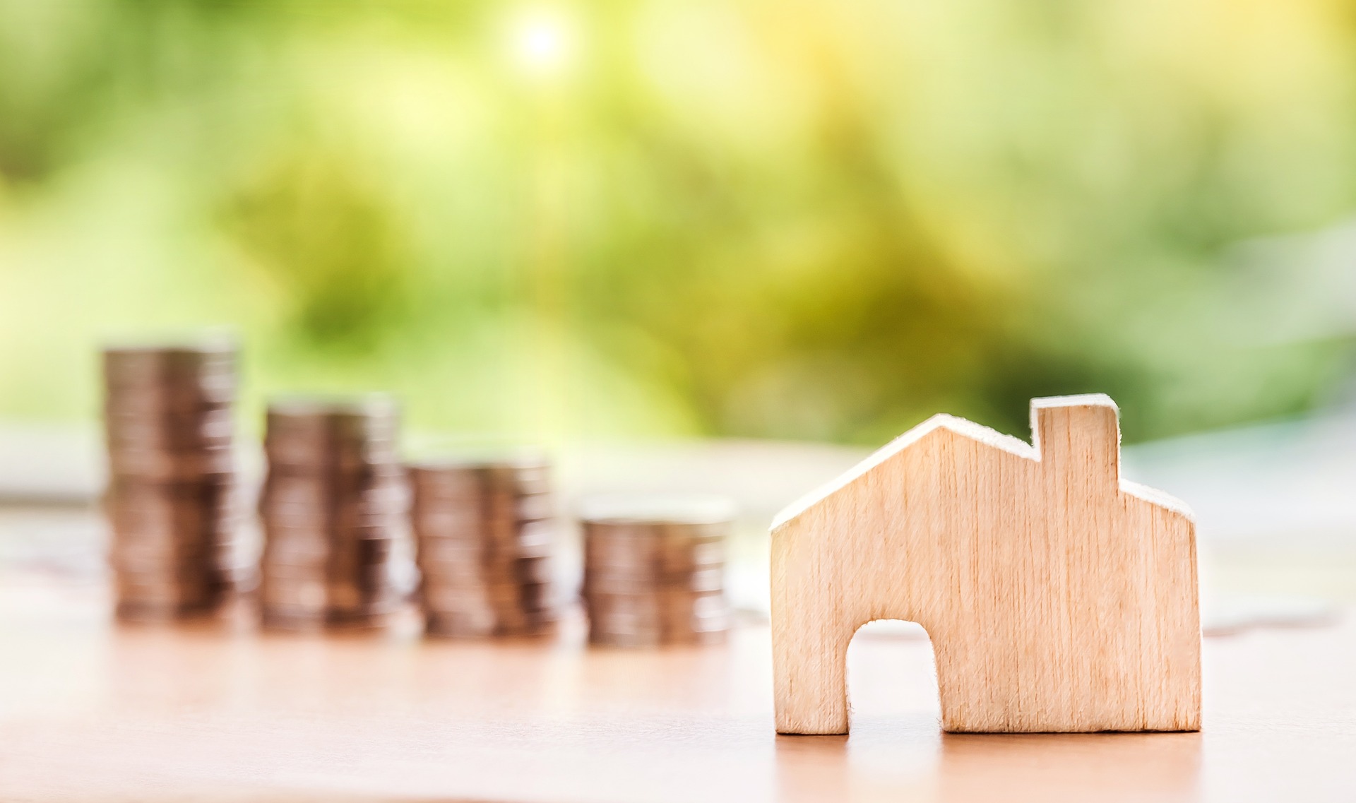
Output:
[[1031,430],[1045,471],[1115,488],[1120,482],[1119,412],[1104,393],[1032,399]]

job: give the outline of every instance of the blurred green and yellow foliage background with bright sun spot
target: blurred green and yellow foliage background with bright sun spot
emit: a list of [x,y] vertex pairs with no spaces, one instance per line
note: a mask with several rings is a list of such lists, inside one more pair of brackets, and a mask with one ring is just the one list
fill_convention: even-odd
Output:
[[1353,66],[1329,0],[0,0],[0,416],[206,324],[251,410],[423,429],[1295,414],[1356,365],[1276,246],[1356,209]]

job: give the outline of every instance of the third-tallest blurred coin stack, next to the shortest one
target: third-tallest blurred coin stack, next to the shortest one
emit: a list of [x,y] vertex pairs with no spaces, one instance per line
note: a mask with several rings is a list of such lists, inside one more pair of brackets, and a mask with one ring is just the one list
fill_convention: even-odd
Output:
[[410,465],[424,629],[452,638],[551,632],[551,468],[540,456]]

